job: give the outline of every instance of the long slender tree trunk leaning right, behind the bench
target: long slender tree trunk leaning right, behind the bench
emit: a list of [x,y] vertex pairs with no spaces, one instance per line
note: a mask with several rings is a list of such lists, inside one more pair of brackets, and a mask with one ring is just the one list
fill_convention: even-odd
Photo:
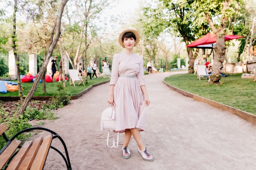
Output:
[[[61,5],[60,5],[59,11],[58,11],[58,15],[57,15],[55,24],[54,24],[54,26],[52,28],[51,40],[50,40],[49,49],[48,49],[48,52],[47,52],[47,57],[46,57],[45,61],[43,62],[42,68],[39,71],[38,76],[36,77],[36,79],[35,79],[32,87],[31,87],[29,93],[27,94],[27,97],[25,98],[24,102],[20,106],[20,109],[18,110],[18,113],[17,113],[17,117],[24,113],[25,109],[27,108],[27,105],[29,104],[30,99],[33,97],[33,95],[36,92],[36,88],[38,87],[38,84],[39,84],[39,81],[40,81],[40,77],[42,77],[42,75],[46,71],[47,64],[49,63],[49,60],[52,57],[52,52],[54,51],[54,48],[55,48],[55,46],[56,46],[56,44],[58,42],[58,39],[59,39],[59,37],[61,35],[61,17],[62,17],[62,13],[63,13],[64,7],[67,4],[67,1],[68,0],[62,0],[61,1]],[[56,31],[56,32],[55,32],[55,37],[53,38],[54,31]]]

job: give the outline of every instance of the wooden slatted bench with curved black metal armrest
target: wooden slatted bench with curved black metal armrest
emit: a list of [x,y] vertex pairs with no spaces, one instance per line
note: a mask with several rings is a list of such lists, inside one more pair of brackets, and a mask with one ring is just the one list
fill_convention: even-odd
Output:
[[[52,148],[63,157],[67,170],[72,170],[67,147],[63,139],[56,132],[47,128],[31,127],[18,132],[9,139],[4,133],[6,130],[6,124],[0,124],[0,135],[7,141],[7,144],[0,150],[0,169],[5,167],[4,170],[43,170],[49,149]],[[22,141],[16,139],[18,135],[24,132],[30,132],[31,130],[45,130],[50,132],[50,135],[25,141],[24,144],[22,144]],[[63,144],[66,157],[61,151],[51,146],[52,140],[55,138],[58,138]]]

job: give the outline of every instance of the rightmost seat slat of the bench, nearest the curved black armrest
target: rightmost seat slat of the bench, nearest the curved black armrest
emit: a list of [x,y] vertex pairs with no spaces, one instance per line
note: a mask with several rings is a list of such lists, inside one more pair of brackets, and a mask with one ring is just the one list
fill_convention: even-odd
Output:
[[31,165],[30,170],[43,170],[52,143],[52,134],[45,137]]

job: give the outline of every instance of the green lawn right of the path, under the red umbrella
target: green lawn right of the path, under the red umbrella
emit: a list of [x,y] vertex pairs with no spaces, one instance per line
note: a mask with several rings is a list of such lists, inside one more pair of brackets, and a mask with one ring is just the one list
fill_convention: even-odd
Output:
[[233,74],[220,79],[220,85],[208,83],[208,79],[197,79],[193,74],[179,74],[166,77],[166,83],[183,91],[232,106],[256,115],[256,82],[242,79],[242,74]]

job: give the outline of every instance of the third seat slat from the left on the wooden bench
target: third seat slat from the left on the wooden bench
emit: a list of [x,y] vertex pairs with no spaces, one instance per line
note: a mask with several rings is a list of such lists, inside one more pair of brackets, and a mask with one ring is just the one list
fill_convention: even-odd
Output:
[[18,170],[29,170],[32,162],[34,161],[34,159],[36,157],[36,153],[37,153],[42,141],[43,141],[43,137],[39,137],[34,140],[31,148],[29,149],[29,152],[27,152],[27,155],[26,155],[25,159],[22,161],[22,163],[20,164],[20,167],[18,168]]

